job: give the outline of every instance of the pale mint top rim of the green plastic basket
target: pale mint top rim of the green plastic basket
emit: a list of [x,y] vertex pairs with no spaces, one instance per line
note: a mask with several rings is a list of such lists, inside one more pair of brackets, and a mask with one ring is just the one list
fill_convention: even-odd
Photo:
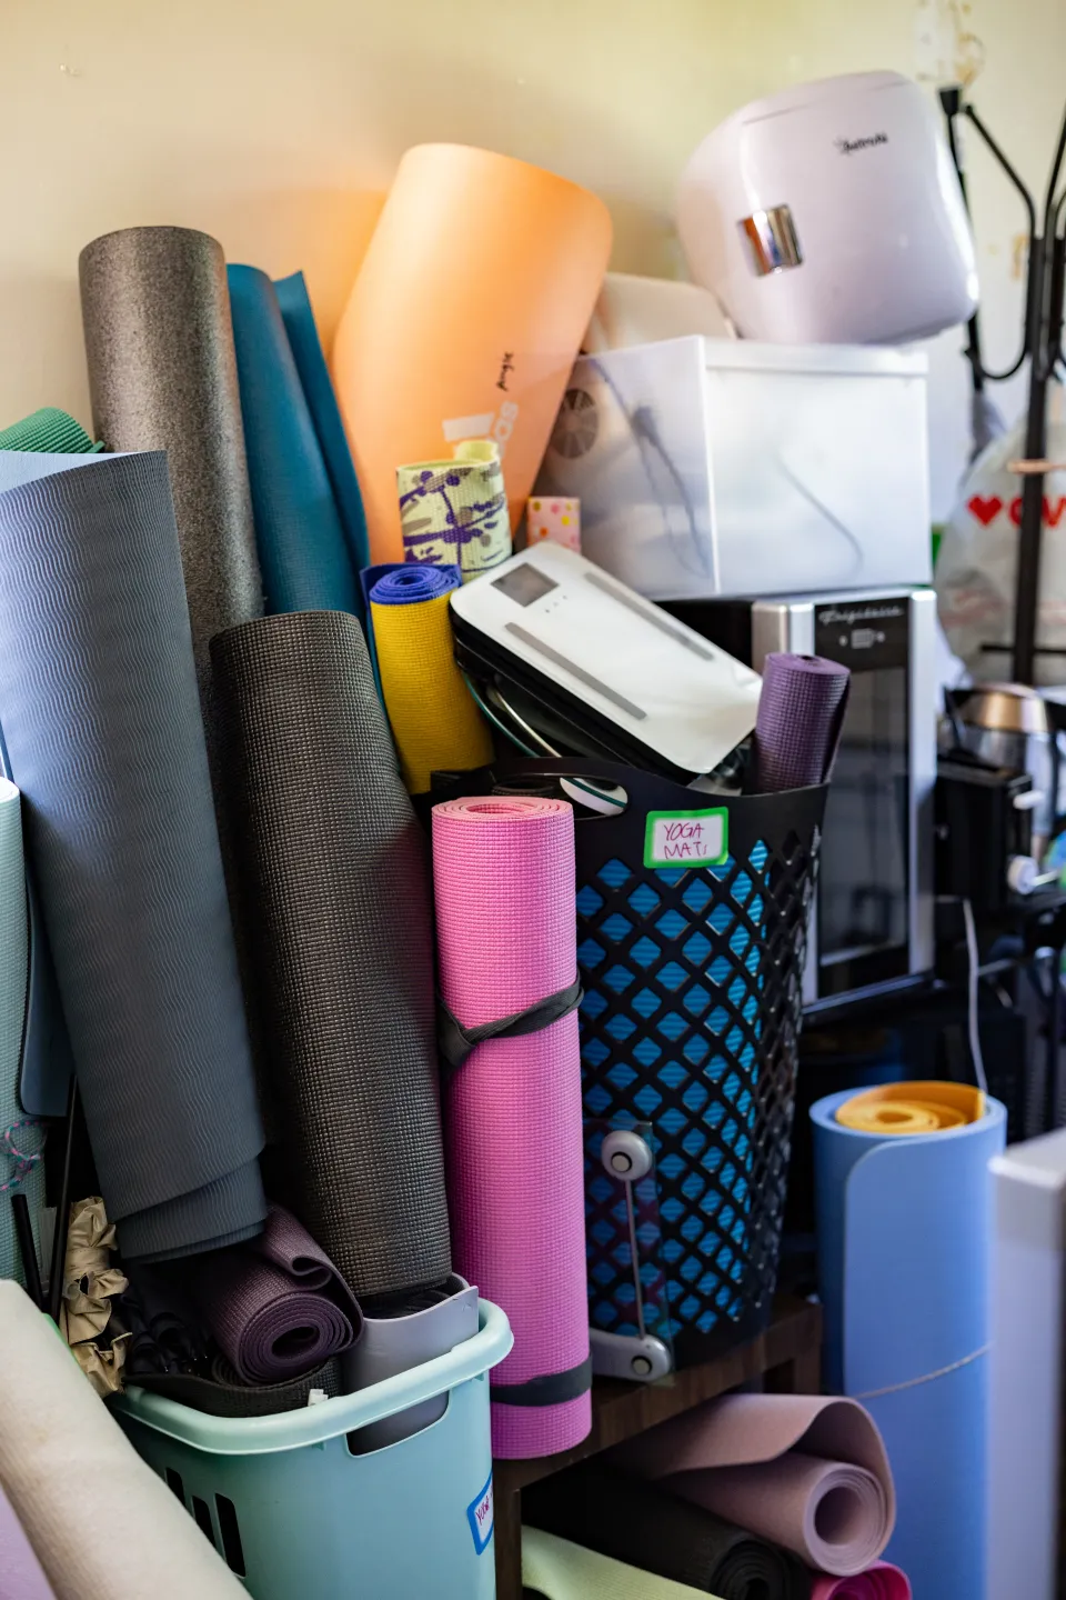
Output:
[[457,1384],[479,1378],[502,1362],[513,1344],[515,1336],[505,1314],[492,1301],[483,1299],[478,1307],[478,1331],[454,1350],[406,1373],[384,1378],[369,1389],[321,1400],[299,1411],[283,1411],[278,1416],[208,1416],[206,1411],[195,1411],[192,1406],[133,1386],[113,1402],[113,1410],[121,1410],[157,1434],[214,1456],[261,1456],[280,1450],[300,1450],[305,1445],[321,1445],[329,1438],[352,1434],[358,1427],[369,1427],[371,1422],[380,1422],[396,1411],[406,1411],[424,1400],[446,1394]]

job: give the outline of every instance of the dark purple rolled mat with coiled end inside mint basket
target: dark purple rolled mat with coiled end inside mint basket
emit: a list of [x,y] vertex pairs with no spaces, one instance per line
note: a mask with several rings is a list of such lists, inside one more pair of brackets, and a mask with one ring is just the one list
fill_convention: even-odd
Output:
[[363,1314],[332,1261],[278,1205],[257,1238],[200,1256],[189,1291],[246,1384],[299,1378],[355,1344]]

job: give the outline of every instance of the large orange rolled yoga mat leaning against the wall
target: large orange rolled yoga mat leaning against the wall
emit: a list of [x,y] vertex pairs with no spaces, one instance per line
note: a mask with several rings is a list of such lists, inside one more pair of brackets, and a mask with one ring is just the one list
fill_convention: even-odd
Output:
[[609,254],[587,189],[491,150],[408,150],[332,352],[372,562],[404,558],[396,469],[465,438],[499,445],[516,526]]

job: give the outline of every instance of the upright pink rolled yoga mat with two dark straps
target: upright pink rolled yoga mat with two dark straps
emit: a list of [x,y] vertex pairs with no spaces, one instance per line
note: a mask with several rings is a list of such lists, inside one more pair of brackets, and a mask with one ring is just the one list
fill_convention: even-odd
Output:
[[[566,802],[435,806],[433,882],[441,998],[465,1029],[575,982]],[[444,1138],[455,1270],[503,1307],[515,1331],[492,1373],[492,1453],[567,1450],[591,1429],[577,1011],[478,1043],[446,1075]],[[507,1390],[519,1398],[518,1386],[531,1386],[527,1403],[505,1403]]]

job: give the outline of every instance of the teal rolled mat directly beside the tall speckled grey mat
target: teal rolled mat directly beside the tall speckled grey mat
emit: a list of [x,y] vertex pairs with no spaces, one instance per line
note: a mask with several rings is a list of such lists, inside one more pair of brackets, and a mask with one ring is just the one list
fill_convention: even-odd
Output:
[[361,613],[356,566],[276,290],[257,267],[229,267],[227,277],[267,610]]

